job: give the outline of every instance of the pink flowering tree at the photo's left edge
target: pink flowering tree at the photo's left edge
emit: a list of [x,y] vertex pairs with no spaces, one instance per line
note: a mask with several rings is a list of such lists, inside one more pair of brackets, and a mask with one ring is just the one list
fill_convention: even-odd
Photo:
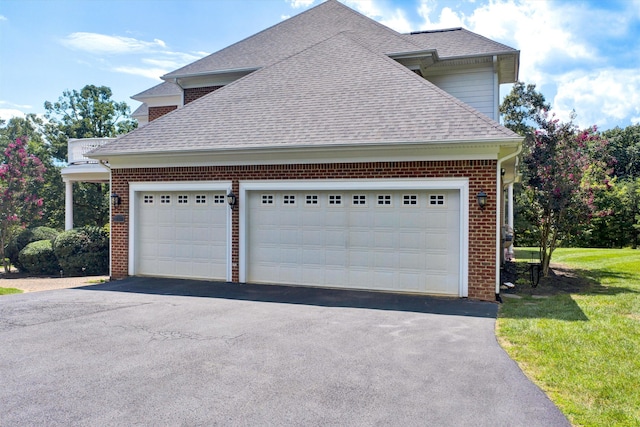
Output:
[[9,271],[5,249],[13,233],[42,216],[42,198],[35,189],[44,181],[45,167],[27,152],[26,138],[18,138],[4,150],[0,163],[0,259]]

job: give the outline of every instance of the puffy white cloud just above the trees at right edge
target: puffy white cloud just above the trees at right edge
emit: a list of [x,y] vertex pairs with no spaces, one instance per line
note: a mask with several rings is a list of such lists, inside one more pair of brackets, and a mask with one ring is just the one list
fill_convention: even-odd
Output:
[[572,71],[557,78],[553,107],[558,117],[569,118],[575,109],[581,127],[613,127],[627,117],[640,118],[640,75],[637,70]]

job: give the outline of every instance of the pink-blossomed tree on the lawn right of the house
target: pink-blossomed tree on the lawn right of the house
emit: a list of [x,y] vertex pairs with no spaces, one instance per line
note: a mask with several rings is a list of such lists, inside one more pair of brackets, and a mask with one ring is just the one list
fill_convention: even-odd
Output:
[[528,204],[523,214],[534,226],[545,276],[553,251],[585,229],[599,212],[594,200],[609,188],[611,161],[607,141],[595,127],[579,130],[543,112],[538,129],[525,140],[523,190]]

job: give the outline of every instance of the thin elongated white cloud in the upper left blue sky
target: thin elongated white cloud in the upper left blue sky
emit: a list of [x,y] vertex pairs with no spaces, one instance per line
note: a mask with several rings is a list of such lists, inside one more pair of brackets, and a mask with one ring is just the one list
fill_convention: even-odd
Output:
[[165,49],[166,43],[159,39],[152,42],[134,39],[132,37],[108,36],[98,33],[71,33],[62,39],[62,44],[71,49],[90,52],[93,54],[127,54]]

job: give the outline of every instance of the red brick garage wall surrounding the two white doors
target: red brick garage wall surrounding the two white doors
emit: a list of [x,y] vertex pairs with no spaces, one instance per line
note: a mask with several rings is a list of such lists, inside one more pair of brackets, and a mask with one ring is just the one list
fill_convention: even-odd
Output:
[[[175,168],[112,169],[113,191],[122,203],[112,214],[126,215],[124,223],[111,224],[112,270],[114,279],[128,274],[129,182],[153,181],[231,181],[240,194],[243,180],[313,179],[393,179],[393,178],[469,178],[469,297],[495,300],[496,274],[496,161],[416,161],[376,163],[335,163],[310,165],[206,166]],[[481,210],[475,195],[489,194]],[[243,200],[238,200],[238,204]],[[232,280],[239,280],[239,210],[232,214]]]

